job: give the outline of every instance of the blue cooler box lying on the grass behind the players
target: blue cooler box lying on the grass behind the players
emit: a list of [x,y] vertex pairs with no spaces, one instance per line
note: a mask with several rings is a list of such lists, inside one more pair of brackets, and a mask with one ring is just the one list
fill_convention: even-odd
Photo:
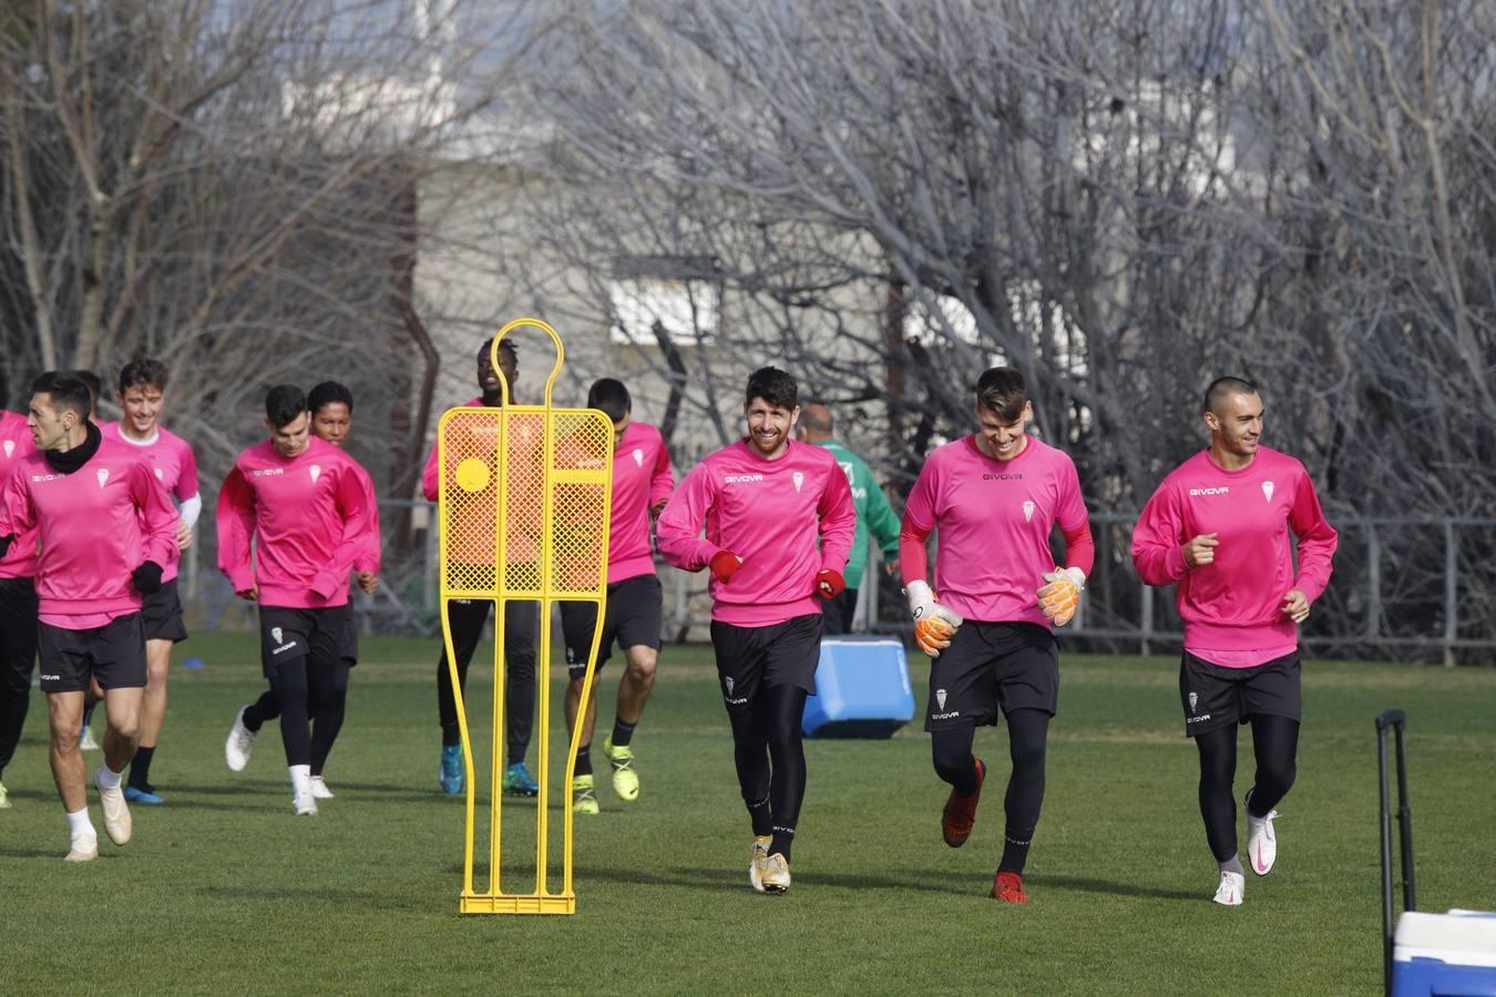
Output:
[[893,737],[914,719],[904,644],[889,637],[827,637],[805,701],[806,737]]

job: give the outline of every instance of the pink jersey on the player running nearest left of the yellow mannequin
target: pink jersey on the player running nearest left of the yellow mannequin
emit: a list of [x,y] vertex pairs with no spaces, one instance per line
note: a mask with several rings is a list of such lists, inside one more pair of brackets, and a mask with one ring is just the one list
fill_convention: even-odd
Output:
[[329,442],[313,436],[295,457],[250,447],[218,490],[218,568],[235,592],[257,587],[260,605],[344,605],[367,553],[367,502],[358,463]]

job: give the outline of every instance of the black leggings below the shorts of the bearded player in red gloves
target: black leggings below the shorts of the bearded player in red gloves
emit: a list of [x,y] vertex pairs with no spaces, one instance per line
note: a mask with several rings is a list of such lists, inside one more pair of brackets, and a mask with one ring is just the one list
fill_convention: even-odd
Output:
[[[729,712],[738,785],[752,818],[752,833],[769,834],[769,852],[785,861],[805,801],[805,689],[761,686],[747,710]],[[764,806],[767,803],[767,807]]]

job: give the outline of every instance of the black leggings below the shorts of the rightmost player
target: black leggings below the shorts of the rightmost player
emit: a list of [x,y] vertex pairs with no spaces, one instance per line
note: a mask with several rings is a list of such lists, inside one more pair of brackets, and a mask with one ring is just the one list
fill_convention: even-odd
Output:
[[[1288,794],[1297,776],[1299,720],[1254,713],[1252,753],[1257,780],[1252,783],[1254,816],[1266,816]],[[1236,858],[1236,723],[1195,737],[1200,749],[1200,816],[1206,840],[1218,862]]]

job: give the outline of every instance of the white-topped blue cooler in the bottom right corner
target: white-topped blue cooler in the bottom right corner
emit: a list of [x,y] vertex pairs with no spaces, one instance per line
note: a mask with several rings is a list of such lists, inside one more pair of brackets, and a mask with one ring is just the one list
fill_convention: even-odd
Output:
[[1496,913],[1405,912],[1393,948],[1393,994],[1496,997]]

